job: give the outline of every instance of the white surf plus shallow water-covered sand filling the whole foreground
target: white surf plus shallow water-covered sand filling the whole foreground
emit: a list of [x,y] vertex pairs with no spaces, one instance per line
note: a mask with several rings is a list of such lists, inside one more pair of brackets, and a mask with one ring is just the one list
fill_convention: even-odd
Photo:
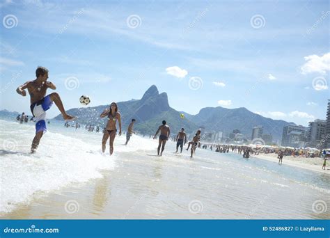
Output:
[[[0,120],[4,218],[330,218],[326,173],[202,149],[190,159],[186,150],[173,153],[171,141],[156,157],[157,141],[140,136],[128,146],[117,137],[109,157],[109,148],[100,153],[101,133],[55,122],[29,154],[33,135],[33,124]],[[68,200],[79,204],[74,214],[64,212]],[[24,206],[29,215],[15,215]]]

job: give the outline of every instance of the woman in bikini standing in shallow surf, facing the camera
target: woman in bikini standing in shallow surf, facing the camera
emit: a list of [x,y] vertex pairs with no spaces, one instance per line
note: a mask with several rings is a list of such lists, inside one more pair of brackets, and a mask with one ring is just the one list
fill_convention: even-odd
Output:
[[110,145],[110,155],[111,155],[113,153],[113,141],[115,140],[116,132],[117,132],[117,128],[116,128],[117,120],[119,124],[119,136],[121,135],[121,119],[116,102],[112,102],[110,104],[110,108],[105,109],[101,113],[100,118],[104,118],[106,116],[108,122],[102,138],[102,152],[103,153],[105,152],[105,145],[107,144],[108,138],[110,137],[109,145]]

